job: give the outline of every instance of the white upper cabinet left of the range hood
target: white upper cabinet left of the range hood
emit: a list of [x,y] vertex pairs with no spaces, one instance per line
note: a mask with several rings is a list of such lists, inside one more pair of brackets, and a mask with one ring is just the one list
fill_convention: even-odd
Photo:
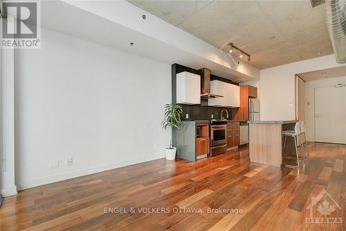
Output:
[[187,71],[176,74],[176,103],[201,104],[201,76]]

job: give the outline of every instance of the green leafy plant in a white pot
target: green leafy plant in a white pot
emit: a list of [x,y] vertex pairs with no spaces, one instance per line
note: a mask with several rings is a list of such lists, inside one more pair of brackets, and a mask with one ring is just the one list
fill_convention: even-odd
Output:
[[[167,103],[165,105],[165,118],[163,119],[161,126],[165,129],[167,127],[179,129],[182,114],[183,109],[181,108],[181,105],[172,105]],[[170,140],[170,147],[165,148],[165,155],[167,160],[175,159],[176,147],[172,146],[172,139]]]

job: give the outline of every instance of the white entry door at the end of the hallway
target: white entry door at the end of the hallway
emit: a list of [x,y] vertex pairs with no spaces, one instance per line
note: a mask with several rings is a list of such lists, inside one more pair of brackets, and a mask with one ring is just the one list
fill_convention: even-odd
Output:
[[346,87],[315,88],[315,140],[346,144]]

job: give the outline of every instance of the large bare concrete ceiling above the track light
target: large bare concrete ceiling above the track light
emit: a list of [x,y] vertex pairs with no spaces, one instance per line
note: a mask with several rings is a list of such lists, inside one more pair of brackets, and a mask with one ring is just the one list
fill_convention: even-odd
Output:
[[222,51],[233,42],[258,69],[333,53],[324,5],[312,8],[309,0],[129,2]]

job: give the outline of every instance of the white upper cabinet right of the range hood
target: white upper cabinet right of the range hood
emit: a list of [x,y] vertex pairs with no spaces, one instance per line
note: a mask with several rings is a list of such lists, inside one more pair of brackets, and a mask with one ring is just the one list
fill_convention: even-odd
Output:
[[217,107],[240,107],[240,87],[220,80],[210,81],[210,92],[224,97],[208,99],[208,105]]

